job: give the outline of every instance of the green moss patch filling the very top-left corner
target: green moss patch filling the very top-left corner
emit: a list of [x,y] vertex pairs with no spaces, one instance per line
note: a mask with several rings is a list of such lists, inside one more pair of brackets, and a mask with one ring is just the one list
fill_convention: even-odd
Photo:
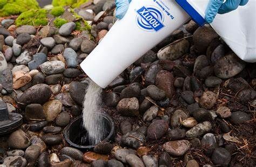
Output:
[[6,3],[2,0],[1,5],[0,16],[18,15],[28,10],[39,9],[36,0],[8,0]]

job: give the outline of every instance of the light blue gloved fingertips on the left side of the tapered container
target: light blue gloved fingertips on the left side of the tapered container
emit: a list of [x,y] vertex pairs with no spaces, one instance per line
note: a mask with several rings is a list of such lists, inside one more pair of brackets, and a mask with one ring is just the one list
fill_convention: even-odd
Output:
[[122,19],[129,8],[129,3],[132,0],[116,0],[116,17]]

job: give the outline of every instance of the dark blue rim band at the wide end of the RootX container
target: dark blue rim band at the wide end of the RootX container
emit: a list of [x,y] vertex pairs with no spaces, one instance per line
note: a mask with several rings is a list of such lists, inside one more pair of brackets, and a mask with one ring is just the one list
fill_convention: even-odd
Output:
[[188,15],[196,22],[199,26],[205,25],[207,22],[204,17],[202,17],[193,6],[188,3],[186,0],[175,0],[181,8],[183,8]]

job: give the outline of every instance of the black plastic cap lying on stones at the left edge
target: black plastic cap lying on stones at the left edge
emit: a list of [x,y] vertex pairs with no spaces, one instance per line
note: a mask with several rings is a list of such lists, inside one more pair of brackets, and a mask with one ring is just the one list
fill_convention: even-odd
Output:
[[22,125],[22,115],[8,113],[7,105],[0,100],[0,135],[13,132]]

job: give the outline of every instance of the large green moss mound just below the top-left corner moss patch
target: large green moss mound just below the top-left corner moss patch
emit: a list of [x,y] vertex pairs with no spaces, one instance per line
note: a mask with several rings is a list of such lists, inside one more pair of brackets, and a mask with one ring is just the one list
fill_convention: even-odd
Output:
[[15,24],[17,26],[21,25],[47,25],[47,10],[38,9],[38,10],[29,10],[21,13],[19,17],[16,19]]

